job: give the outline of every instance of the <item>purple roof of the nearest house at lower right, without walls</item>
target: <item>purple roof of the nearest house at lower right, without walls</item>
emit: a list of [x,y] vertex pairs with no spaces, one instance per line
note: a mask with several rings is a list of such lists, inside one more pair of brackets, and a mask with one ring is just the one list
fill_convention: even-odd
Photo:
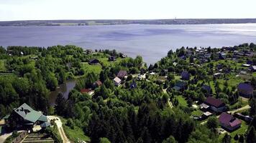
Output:
[[238,124],[241,124],[242,122],[233,117],[231,114],[227,114],[225,112],[221,113],[221,115],[219,116],[219,122],[221,124],[224,124],[226,126],[231,126],[231,127],[235,127],[237,126]]

